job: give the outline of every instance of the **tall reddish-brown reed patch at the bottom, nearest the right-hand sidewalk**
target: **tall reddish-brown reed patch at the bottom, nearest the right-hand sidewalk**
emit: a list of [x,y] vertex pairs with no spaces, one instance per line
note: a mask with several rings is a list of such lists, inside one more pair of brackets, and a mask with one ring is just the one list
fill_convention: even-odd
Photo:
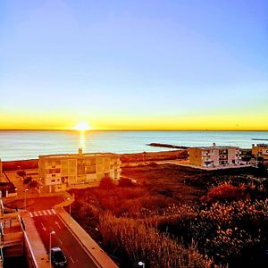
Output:
[[194,247],[182,247],[166,233],[129,218],[101,216],[99,230],[105,247],[126,255],[128,267],[143,261],[146,267],[211,267],[213,261],[197,253]]

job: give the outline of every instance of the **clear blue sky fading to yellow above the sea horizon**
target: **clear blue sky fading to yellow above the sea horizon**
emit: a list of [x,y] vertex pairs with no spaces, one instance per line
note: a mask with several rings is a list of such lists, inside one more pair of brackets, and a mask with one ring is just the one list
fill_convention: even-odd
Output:
[[268,130],[266,0],[2,0],[0,129]]

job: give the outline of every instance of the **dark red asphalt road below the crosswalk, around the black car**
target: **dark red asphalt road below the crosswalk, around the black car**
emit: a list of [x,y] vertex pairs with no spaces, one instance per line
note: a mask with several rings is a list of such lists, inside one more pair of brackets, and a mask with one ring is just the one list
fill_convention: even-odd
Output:
[[68,267],[95,268],[88,254],[80,243],[72,236],[57,214],[35,216],[32,218],[48,253],[50,233],[51,247],[61,247],[68,259]]

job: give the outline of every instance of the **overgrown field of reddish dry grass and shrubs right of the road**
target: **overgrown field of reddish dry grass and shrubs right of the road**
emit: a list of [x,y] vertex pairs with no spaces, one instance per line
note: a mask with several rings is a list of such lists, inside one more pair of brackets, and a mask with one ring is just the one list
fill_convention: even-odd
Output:
[[[207,267],[212,260],[230,267],[262,267],[268,200],[244,198],[245,187],[239,183],[247,172],[154,164],[128,167],[123,174],[138,180],[138,186],[71,191],[76,196],[74,217],[121,259],[121,267],[137,267],[137,261],[146,267]],[[230,180],[234,185],[222,183]],[[209,197],[210,204],[200,203],[201,196]]]

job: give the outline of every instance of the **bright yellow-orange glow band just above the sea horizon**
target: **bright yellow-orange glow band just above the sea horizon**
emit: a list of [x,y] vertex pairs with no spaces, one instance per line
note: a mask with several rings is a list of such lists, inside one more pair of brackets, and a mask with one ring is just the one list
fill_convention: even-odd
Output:
[[268,130],[268,113],[183,116],[98,115],[78,121],[74,114],[1,114],[0,130]]

